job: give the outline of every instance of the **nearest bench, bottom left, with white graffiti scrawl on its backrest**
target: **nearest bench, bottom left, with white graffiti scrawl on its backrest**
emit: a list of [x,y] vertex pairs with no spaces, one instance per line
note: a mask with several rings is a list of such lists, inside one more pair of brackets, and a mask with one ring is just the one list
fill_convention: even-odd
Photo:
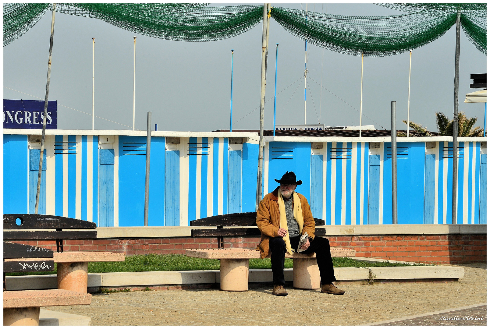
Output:
[[[17,259],[17,260],[13,260]],[[38,326],[40,306],[89,305],[92,295],[65,289],[6,291],[5,273],[52,271],[53,251],[3,242],[3,325]]]

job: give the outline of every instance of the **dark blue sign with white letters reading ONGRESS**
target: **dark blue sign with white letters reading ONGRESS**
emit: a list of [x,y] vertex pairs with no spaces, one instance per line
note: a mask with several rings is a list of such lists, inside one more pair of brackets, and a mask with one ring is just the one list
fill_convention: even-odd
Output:
[[[46,129],[57,128],[57,104],[48,101]],[[43,129],[44,100],[3,100],[3,128]]]

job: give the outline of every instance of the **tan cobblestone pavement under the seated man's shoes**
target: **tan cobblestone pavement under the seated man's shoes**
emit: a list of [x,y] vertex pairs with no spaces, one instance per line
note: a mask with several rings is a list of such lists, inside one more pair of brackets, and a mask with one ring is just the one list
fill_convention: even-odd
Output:
[[486,264],[463,267],[459,282],[349,282],[339,284],[344,295],[286,287],[289,296],[277,297],[271,284],[94,294],[91,305],[49,309],[90,316],[92,325],[362,325],[486,303]]

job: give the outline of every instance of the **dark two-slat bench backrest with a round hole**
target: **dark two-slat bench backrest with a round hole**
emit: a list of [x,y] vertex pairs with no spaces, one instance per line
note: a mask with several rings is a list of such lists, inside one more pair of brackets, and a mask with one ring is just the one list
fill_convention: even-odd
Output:
[[96,228],[96,223],[62,216],[25,213],[3,215],[3,240],[55,240],[61,252],[63,240],[96,239]]

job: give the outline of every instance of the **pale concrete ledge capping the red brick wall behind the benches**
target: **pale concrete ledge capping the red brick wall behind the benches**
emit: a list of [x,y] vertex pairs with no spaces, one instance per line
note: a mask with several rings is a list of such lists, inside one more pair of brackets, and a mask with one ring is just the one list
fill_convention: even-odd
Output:
[[[487,224],[384,224],[324,225],[326,236],[332,235],[421,235],[487,234]],[[98,239],[140,239],[144,237],[191,237],[191,229],[201,226],[98,227]]]

